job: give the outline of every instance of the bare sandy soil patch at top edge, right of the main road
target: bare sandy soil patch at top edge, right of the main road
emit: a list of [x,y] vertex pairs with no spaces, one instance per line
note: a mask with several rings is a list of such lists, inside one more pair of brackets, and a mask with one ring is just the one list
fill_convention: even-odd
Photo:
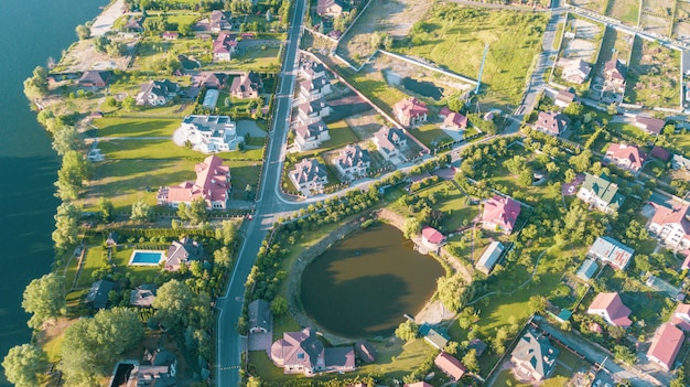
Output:
[[433,4],[428,0],[371,0],[353,28],[341,39],[338,53],[359,61],[375,51],[371,33],[387,32],[391,37],[403,37],[412,25],[427,14]]

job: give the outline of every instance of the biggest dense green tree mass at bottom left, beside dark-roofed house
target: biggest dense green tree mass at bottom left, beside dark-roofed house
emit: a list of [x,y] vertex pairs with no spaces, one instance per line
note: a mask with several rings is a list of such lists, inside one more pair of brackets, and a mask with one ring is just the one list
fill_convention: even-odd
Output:
[[93,319],[79,319],[65,330],[57,365],[68,385],[97,386],[120,355],[143,336],[136,311],[101,310]]

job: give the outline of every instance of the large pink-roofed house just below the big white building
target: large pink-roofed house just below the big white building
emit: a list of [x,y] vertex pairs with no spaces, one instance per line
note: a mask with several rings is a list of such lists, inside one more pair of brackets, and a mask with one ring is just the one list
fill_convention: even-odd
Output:
[[186,181],[179,185],[161,187],[158,192],[158,204],[176,208],[180,203],[186,205],[203,197],[206,208],[225,209],[230,196],[230,169],[223,165],[223,159],[207,157],[194,168],[196,181]]

